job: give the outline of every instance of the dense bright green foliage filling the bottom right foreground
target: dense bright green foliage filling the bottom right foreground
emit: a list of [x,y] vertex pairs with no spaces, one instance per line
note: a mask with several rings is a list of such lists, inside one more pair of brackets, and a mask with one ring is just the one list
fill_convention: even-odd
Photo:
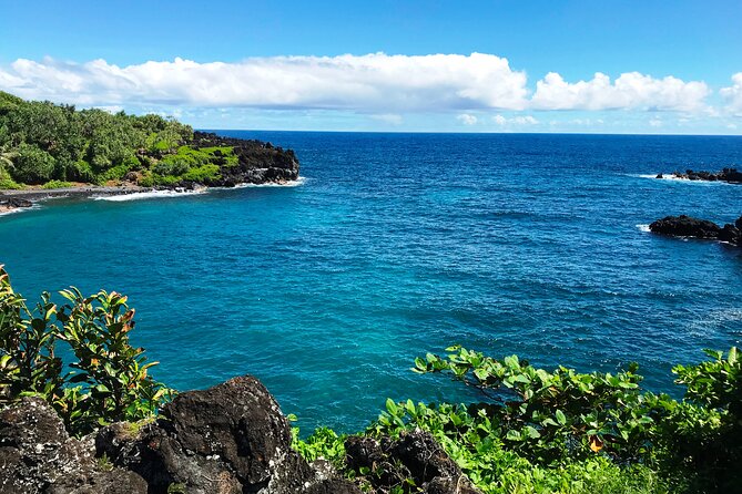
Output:
[[[485,493],[712,493],[742,482],[742,364],[735,348],[713,360],[678,366],[688,387],[681,401],[640,389],[637,367],[616,375],[536,369],[460,347],[418,358],[418,373],[446,373],[481,391],[469,404],[387,400],[363,434],[398,438],[430,432]],[[323,456],[347,475],[345,436],[321,429],[295,446]],[[416,492],[400,482],[399,493]]]

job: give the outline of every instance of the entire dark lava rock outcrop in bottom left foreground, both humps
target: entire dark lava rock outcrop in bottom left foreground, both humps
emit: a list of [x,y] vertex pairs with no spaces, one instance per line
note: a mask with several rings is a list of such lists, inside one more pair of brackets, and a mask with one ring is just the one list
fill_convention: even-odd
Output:
[[254,378],[191,391],[157,420],[69,438],[44,401],[0,415],[0,493],[359,494],[291,449],[278,404]]

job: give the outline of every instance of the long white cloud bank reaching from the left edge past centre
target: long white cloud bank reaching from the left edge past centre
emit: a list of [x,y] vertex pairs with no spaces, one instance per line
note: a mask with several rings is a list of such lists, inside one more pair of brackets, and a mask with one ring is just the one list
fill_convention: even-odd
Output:
[[0,89],[87,105],[329,109],[370,113],[527,105],[526,74],[491,54],[274,56],[237,63],[175,59],[118,66],[20,59]]

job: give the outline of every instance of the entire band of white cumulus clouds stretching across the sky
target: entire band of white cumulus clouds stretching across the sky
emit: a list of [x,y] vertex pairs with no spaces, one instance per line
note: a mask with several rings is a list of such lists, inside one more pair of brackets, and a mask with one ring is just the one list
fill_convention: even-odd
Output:
[[[721,95],[742,115],[742,72],[732,82]],[[0,66],[0,90],[85,106],[352,111],[395,125],[410,112],[450,112],[472,124],[476,112],[485,110],[712,111],[704,82],[638,72],[616,80],[599,72],[577,82],[550,72],[536,82],[531,96],[525,72],[486,53],[271,56],[234,63],[175,59],[128,66],[19,59]],[[507,124],[533,124],[529,119],[508,119]]]

